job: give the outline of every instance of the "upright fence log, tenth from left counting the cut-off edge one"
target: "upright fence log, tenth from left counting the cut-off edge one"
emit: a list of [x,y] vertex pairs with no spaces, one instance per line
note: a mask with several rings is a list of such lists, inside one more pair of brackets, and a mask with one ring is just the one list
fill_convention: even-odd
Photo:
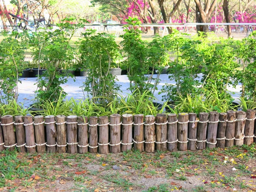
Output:
[[89,152],[97,153],[98,151],[98,117],[90,116],[89,119]]

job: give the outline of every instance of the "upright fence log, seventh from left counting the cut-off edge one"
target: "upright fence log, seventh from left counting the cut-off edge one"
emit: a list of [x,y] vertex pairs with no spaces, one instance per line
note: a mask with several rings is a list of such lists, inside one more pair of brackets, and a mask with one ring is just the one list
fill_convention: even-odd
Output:
[[67,150],[67,128],[66,128],[66,116],[56,116],[56,144],[58,153],[66,153]]

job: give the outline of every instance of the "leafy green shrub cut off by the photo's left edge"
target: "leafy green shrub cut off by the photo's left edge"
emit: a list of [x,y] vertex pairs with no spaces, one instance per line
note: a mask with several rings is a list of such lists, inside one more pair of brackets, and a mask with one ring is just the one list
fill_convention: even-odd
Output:
[[[23,71],[25,62],[26,41],[23,38],[17,40],[17,32],[8,35],[2,32],[4,38],[0,42],[0,102],[8,103],[18,98],[19,78]],[[26,33],[20,34],[21,37]]]

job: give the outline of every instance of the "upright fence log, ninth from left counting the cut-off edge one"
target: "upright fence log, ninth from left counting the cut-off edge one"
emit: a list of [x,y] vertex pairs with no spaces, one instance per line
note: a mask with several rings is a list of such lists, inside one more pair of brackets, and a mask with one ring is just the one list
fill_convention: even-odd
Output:
[[88,152],[88,118],[78,117],[78,152],[85,154]]

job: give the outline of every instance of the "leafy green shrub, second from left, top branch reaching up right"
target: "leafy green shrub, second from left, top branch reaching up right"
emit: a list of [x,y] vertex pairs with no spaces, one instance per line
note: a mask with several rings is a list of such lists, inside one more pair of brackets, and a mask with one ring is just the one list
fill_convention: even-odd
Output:
[[[35,92],[37,97],[37,105],[42,101],[49,100],[51,102],[58,100],[60,94],[66,96],[61,84],[67,82],[67,78],[73,75],[69,71],[61,73],[61,67],[72,66],[75,62],[76,50],[71,47],[69,42],[74,33],[84,25],[82,23],[71,24],[73,18],[66,18],[62,23],[58,23],[59,29],[53,32],[43,31],[40,36],[36,36],[41,42],[33,44],[33,59],[40,66],[45,66],[46,71],[38,76],[38,90]],[[44,41],[41,41],[41,39]],[[38,56],[40,55],[40,56]],[[67,68],[67,67],[66,67]]]

